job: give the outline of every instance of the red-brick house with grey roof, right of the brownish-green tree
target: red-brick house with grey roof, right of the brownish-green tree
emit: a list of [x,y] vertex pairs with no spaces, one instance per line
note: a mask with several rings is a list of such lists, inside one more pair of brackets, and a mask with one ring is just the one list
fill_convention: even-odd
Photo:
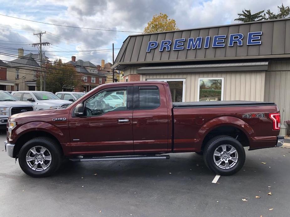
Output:
[[100,65],[95,65],[90,61],[83,61],[81,59],[76,61],[75,56],[72,56],[71,61],[66,64],[75,67],[76,71],[82,76],[83,83],[81,87],[74,89],[75,92],[88,92],[106,82],[106,75],[100,73]]

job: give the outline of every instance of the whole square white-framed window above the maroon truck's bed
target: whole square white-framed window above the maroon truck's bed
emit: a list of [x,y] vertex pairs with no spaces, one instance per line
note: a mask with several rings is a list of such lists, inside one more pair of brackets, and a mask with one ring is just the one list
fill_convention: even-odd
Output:
[[224,100],[224,78],[199,78],[198,101]]

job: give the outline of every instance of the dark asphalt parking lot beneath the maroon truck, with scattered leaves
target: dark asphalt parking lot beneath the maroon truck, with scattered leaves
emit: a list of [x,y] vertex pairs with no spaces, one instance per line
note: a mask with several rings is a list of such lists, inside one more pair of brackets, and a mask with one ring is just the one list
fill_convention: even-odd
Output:
[[6,132],[0,133],[0,216],[290,214],[287,148],[246,151],[241,171],[216,184],[195,153],[170,154],[169,160],[66,162],[52,177],[31,178],[6,155]]

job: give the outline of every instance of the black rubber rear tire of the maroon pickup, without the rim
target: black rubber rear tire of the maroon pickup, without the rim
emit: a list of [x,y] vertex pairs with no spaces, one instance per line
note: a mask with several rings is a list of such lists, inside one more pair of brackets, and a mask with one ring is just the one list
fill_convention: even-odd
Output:
[[[238,160],[233,167],[228,169],[220,168],[218,165],[214,162],[214,151],[220,146],[220,145],[231,145],[234,147],[238,153]],[[233,137],[230,136],[216,136],[213,139],[209,140],[208,143],[205,145],[203,149],[203,159],[207,167],[218,175],[233,175],[237,173],[244,165],[245,163],[245,149],[240,144],[240,142]],[[230,161],[232,162],[232,161]]]

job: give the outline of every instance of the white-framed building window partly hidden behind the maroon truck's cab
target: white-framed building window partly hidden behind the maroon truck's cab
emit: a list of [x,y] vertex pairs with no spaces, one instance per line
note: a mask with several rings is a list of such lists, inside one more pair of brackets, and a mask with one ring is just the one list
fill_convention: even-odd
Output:
[[[126,78],[127,79],[127,78]],[[185,78],[181,79],[146,79],[146,81],[165,81],[169,84],[172,102],[185,101]]]

